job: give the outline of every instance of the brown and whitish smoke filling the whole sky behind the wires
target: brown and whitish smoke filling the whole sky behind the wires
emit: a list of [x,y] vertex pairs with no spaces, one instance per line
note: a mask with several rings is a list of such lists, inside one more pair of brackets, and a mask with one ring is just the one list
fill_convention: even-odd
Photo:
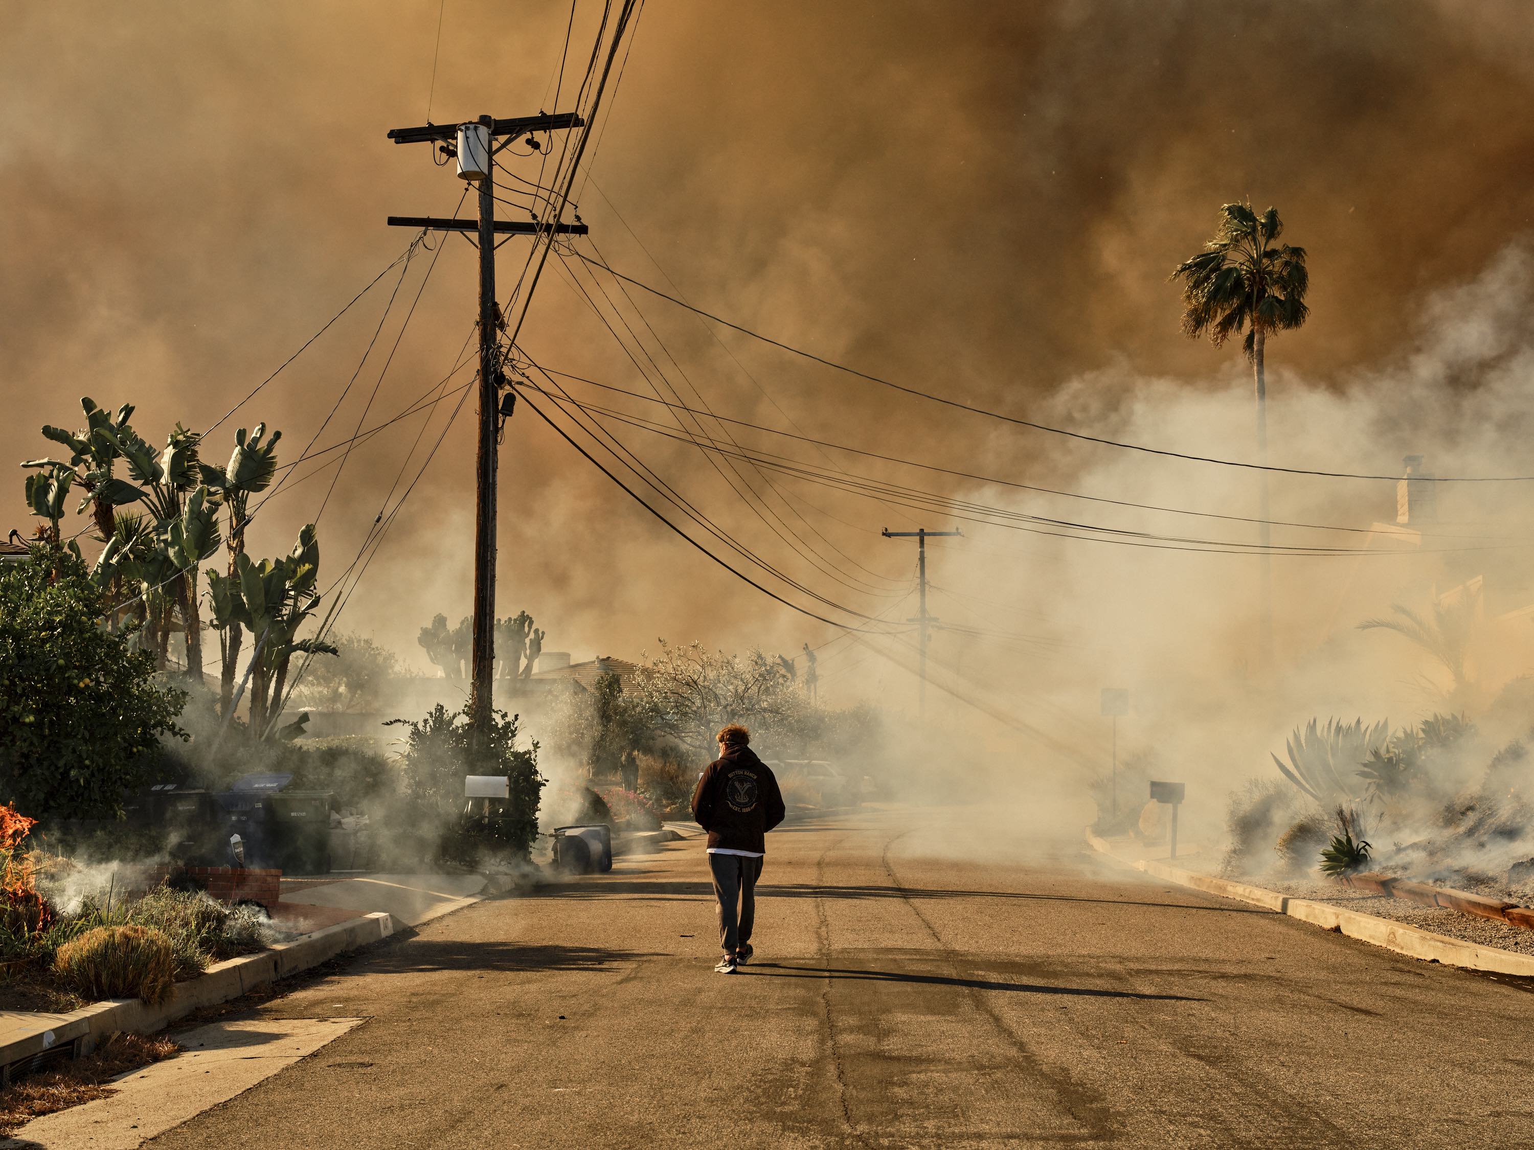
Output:
[[[74,425],[81,394],[140,403],[146,434],[222,416],[405,247],[387,215],[453,210],[451,169],[385,130],[422,123],[428,90],[437,121],[552,107],[569,9],[453,0],[434,87],[430,5],[11,2],[3,12],[0,457],[21,460],[43,452],[41,423]],[[577,14],[571,71],[594,18]],[[594,179],[577,192],[617,267],[664,284],[614,207],[689,299],[788,342],[977,405],[1235,458],[1253,452],[1246,366],[1232,348],[1180,336],[1164,279],[1221,202],[1272,202],[1285,239],[1310,250],[1315,285],[1310,324],[1269,348],[1273,458],[1393,474],[1404,454],[1425,454],[1439,474],[1522,474],[1531,48],[1534,17],[1520,5],[655,5]],[[518,163],[532,178],[537,156]],[[520,258],[503,251],[503,281]],[[459,241],[442,250],[367,423],[451,365],[472,319],[471,261]],[[356,425],[417,284],[413,270],[321,443]],[[264,419],[287,432],[291,460],[356,366],[382,297],[219,428],[210,457],[227,452],[233,426]],[[724,336],[769,399],[692,317],[641,304],[723,412],[788,429],[787,412],[810,435],[1042,486],[1253,514],[1250,474],[999,429]],[[555,268],[523,342],[548,366],[647,389]],[[345,627],[410,658],[431,615],[468,610],[471,417],[472,403],[348,606]],[[407,483],[440,426],[439,416]],[[348,462],[321,521],[331,572],[350,561],[414,435],[408,422]],[[795,577],[868,613],[891,606],[796,558],[698,451],[624,437]],[[273,500],[253,550],[285,550],[330,474]],[[914,481],[1034,514],[1255,540],[1252,524]],[[508,428],[502,485],[499,613],[529,610],[551,650],[632,658],[664,635],[793,653],[834,635],[681,544],[531,412]],[[20,489],[17,471],[0,506],[25,529]],[[914,557],[877,531],[950,526],[788,491],[796,514],[867,570],[773,501],[778,514],[839,569],[888,590],[905,586]],[[1276,518],[1298,521],[1367,527],[1394,512],[1388,483],[1275,480],[1273,500]],[[1522,488],[1454,489],[1443,511],[1465,524],[1445,531],[1462,535],[1526,527]],[[976,771],[1019,780],[1101,762],[1097,690],[1126,685],[1138,710],[1121,742],[1154,747],[1167,773],[1206,780],[1210,794],[1312,713],[1405,719],[1430,707],[1414,656],[1353,624],[1397,600],[1420,606],[1480,558],[1276,558],[1284,670],[1259,681],[1255,560],[966,532],[933,547],[933,580],[953,593],[934,612],[1032,639],[934,644],[934,679],[989,711],[945,702],[940,688],[930,699],[936,722],[988,745]],[[885,644],[893,662],[839,647],[822,661],[830,698],[914,695],[908,647]],[[1488,676],[1522,665],[1517,653],[1499,658]]]

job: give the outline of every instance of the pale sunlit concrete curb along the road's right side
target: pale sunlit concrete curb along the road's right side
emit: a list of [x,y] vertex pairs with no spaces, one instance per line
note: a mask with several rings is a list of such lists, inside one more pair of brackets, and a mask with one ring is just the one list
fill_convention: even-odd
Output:
[[1350,911],[1309,899],[1290,899],[1278,891],[1267,891],[1261,886],[1238,883],[1230,879],[1215,879],[1209,874],[1195,874],[1193,871],[1167,866],[1161,862],[1146,859],[1129,862],[1115,854],[1109,843],[1092,834],[1091,830],[1086,833],[1086,842],[1092,849],[1106,854],[1109,859],[1121,862],[1126,866],[1134,866],[1137,871],[1144,871],[1157,879],[1218,894],[1226,899],[1235,899],[1236,902],[1255,903],[1256,906],[1285,914],[1290,918],[1299,918],[1325,931],[1336,931],[1338,934],[1345,934],[1348,938],[1384,946],[1387,951],[1404,954],[1408,958],[1420,958],[1443,966],[1462,966],[1470,971],[1490,971],[1493,974],[1534,978],[1534,955],[1529,954],[1503,951],[1496,946],[1477,946],[1460,938],[1450,938],[1443,934],[1397,923],[1393,918],[1381,918],[1362,911]]

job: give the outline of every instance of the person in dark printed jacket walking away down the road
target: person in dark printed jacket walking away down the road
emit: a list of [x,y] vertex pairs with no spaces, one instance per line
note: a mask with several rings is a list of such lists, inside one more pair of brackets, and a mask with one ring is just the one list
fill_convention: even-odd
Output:
[[710,762],[692,793],[692,817],[709,833],[709,869],[719,903],[719,946],[713,969],[735,974],[750,961],[756,922],[756,880],[767,853],[765,834],[782,822],[782,791],[772,768],[750,748],[752,733],[730,724],[715,736],[719,757]]

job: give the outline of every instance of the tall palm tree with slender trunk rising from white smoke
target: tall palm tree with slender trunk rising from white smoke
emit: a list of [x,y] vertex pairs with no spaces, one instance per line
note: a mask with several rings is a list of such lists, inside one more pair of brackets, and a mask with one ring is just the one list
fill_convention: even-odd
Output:
[[[1290,331],[1305,322],[1305,250],[1278,244],[1284,224],[1276,209],[1258,216],[1250,204],[1220,209],[1215,238],[1192,259],[1177,265],[1174,281],[1183,281],[1183,334],[1209,336],[1216,348],[1230,336],[1246,331],[1243,347],[1256,379],[1256,449],[1267,466],[1267,388],[1262,382],[1262,348],[1269,333]],[[1273,659],[1273,569],[1269,555],[1267,472],[1261,472],[1262,543],[1262,623],[1258,658],[1264,667]]]

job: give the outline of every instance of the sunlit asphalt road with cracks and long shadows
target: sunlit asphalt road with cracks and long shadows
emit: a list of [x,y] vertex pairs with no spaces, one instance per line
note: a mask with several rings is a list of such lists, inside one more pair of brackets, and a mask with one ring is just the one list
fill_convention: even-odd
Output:
[[1167,888],[1074,830],[997,859],[971,826],[773,833],[735,977],[698,840],[471,906],[272,1001],[368,1021],[147,1145],[1526,1144],[1526,989]]

